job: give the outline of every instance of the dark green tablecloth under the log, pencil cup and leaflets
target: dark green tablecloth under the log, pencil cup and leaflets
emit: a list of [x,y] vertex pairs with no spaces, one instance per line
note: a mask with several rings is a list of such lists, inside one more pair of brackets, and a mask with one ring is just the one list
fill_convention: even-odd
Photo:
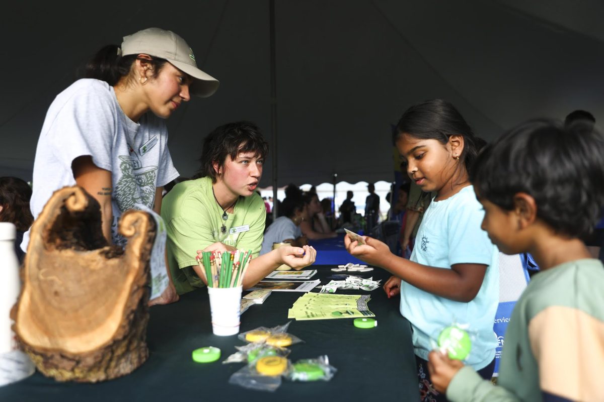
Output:
[[[332,266],[314,266],[325,284]],[[339,272],[338,272],[339,273]],[[359,275],[359,274],[357,274]],[[376,269],[360,274],[385,280]],[[316,278],[316,277],[315,277]],[[383,281],[382,281],[383,283]],[[340,291],[367,294],[365,291]],[[245,293],[245,292],[244,292]],[[221,362],[244,342],[237,336],[214,336],[205,289],[184,295],[178,303],[154,306],[147,332],[150,356],[129,375],[97,384],[58,383],[36,372],[0,388],[0,401],[417,401],[419,392],[409,322],[399,313],[399,298],[388,300],[384,291],[369,292],[369,307],[378,325],[369,330],[353,326],[352,319],[292,321],[289,332],[304,343],[292,345],[291,360],[327,354],[338,369],[330,382],[283,381],[275,392],[251,391],[230,385],[228,379],[242,363]],[[288,309],[302,294],[273,292],[262,305],[251,306],[241,317],[240,330],[274,327],[288,322]],[[219,362],[194,363],[191,351],[204,346],[222,350]]]

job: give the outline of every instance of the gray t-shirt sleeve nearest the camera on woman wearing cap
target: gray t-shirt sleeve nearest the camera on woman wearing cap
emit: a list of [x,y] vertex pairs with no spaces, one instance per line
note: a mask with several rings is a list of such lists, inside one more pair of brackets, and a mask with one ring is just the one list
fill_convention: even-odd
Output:
[[101,169],[112,170],[112,145],[117,122],[110,93],[98,83],[82,86],[63,104],[48,128],[47,143],[54,156],[67,169],[74,159],[91,155]]

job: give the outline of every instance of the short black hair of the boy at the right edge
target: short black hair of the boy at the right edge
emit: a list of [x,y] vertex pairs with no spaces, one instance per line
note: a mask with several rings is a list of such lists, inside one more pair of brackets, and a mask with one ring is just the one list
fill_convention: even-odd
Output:
[[513,196],[535,198],[537,217],[556,233],[584,238],[604,204],[604,137],[580,122],[523,122],[478,155],[470,180],[481,198],[513,210]]

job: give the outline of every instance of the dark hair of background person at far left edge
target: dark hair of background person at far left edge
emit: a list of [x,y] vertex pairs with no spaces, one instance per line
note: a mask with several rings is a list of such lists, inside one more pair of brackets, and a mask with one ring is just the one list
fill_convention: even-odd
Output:
[[0,177],[0,222],[11,222],[27,231],[34,221],[30,210],[31,187],[18,177]]

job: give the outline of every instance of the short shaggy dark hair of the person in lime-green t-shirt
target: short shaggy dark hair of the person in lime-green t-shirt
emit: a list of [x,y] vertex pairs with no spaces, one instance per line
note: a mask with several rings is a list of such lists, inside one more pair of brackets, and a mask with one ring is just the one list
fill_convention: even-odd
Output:
[[215,128],[204,139],[201,167],[194,178],[211,177],[212,183],[216,183],[219,174],[214,170],[214,163],[223,168],[227,156],[236,159],[240,152],[254,152],[260,159],[265,159],[268,155],[268,142],[257,125],[239,121]]

